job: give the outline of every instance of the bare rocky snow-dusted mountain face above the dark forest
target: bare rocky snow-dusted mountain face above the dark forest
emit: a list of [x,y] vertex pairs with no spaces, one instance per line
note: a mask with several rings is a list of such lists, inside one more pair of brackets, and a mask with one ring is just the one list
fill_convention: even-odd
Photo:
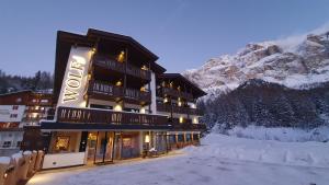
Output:
[[236,55],[212,58],[201,68],[188,70],[183,74],[214,97],[236,89],[249,79],[307,89],[329,81],[328,31],[251,43]]

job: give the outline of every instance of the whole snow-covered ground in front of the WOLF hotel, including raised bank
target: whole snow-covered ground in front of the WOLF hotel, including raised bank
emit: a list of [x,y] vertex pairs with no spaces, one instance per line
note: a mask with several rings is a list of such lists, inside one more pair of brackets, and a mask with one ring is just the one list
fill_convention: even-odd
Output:
[[329,144],[211,134],[184,154],[35,175],[29,185],[328,185]]

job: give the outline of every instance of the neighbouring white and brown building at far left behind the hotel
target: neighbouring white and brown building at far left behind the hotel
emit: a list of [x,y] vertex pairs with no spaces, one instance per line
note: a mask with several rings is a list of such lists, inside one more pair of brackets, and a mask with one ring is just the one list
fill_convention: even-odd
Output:
[[39,127],[52,107],[50,93],[20,91],[0,95],[0,155],[9,155],[24,144],[24,129]]

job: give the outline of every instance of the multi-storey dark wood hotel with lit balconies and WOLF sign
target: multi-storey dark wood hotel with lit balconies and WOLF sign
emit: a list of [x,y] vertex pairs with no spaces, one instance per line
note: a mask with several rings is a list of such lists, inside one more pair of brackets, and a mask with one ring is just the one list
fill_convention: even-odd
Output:
[[43,169],[107,163],[197,144],[205,95],[129,36],[58,32],[53,120]]

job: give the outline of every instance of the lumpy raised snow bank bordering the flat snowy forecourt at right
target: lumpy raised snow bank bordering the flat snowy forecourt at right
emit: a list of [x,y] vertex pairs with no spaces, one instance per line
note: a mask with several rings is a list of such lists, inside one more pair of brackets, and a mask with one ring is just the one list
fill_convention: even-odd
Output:
[[184,150],[195,157],[202,153],[207,158],[329,167],[328,142],[280,142],[209,134],[202,144],[202,148]]

